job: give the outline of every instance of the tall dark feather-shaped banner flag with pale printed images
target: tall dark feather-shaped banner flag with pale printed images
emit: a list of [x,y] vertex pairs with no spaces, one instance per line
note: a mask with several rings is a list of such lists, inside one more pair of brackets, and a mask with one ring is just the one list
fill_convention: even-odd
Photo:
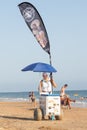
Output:
[[40,46],[50,55],[48,34],[37,9],[28,2],[20,3],[20,12]]

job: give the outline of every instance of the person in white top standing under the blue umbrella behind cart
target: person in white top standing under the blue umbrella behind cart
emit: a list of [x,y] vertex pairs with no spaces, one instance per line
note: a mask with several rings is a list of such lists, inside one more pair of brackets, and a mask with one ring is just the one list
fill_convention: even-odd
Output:
[[40,81],[38,88],[40,94],[52,94],[52,87],[57,87],[56,83],[47,73],[43,73],[42,76],[43,79]]

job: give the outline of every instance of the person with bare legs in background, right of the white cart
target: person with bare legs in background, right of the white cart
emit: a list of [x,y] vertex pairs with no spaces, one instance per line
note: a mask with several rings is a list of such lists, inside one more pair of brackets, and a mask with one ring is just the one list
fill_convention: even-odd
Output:
[[60,90],[61,105],[68,105],[69,109],[71,109],[71,102],[75,102],[75,100],[70,99],[69,96],[65,93],[67,87],[68,85],[65,84]]

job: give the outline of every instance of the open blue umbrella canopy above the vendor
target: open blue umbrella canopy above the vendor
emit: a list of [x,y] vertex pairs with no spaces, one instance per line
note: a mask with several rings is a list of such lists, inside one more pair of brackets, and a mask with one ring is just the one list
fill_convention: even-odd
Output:
[[42,62],[30,64],[26,66],[24,69],[22,69],[22,71],[48,72],[48,73],[57,72],[57,70],[53,66]]

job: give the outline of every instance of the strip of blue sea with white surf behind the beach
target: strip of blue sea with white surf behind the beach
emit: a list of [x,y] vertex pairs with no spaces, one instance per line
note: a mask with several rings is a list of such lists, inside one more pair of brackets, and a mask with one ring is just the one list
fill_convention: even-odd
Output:
[[[59,91],[54,91],[53,94],[60,95]],[[75,99],[76,102],[72,103],[73,107],[87,108],[87,90],[67,90],[66,94]],[[34,91],[36,100],[39,101],[39,92]],[[28,102],[29,92],[1,92],[0,102]]]

